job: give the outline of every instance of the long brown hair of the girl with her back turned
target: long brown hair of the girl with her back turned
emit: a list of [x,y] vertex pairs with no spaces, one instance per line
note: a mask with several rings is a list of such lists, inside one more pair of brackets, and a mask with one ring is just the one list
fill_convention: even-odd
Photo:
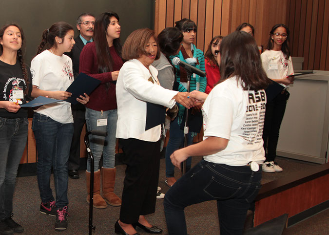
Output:
[[234,31],[222,40],[219,53],[220,82],[237,76],[244,90],[254,91],[271,84],[262,67],[257,43],[250,34]]

